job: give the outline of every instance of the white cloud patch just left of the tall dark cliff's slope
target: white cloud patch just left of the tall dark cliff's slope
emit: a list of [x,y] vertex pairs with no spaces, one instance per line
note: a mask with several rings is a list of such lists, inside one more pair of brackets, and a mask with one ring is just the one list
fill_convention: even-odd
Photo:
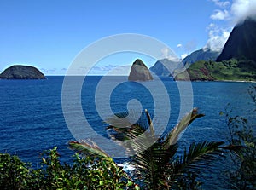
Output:
[[210,26],[208,26],[208,31],[209,38],[205,48],[220,52],[230,36],[230,30],[210,24]]

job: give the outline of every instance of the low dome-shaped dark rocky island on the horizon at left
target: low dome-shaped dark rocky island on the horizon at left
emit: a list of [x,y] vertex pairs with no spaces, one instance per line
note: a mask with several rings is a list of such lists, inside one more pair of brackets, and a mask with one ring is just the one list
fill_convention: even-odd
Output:
[[5,69],[0,79],[45,79],[45,76],[34,66],[15,65]]

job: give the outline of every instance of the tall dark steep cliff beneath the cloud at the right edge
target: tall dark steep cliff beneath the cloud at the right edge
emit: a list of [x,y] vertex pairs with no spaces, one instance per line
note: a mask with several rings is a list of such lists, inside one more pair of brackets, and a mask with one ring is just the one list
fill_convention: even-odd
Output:
[[256,21],[247,19],[234,27],[217,61],[231,58],[256,61]]

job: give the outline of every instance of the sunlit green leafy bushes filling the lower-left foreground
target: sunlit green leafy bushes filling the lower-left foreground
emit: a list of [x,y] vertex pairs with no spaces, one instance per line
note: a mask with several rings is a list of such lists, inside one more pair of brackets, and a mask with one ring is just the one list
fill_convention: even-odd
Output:
[[42,166],[32,169],[17,156],[0,154],[0,189],[128,189],[134,187],[112,158],[74,155],[61,164],[57,148],[44,152]]

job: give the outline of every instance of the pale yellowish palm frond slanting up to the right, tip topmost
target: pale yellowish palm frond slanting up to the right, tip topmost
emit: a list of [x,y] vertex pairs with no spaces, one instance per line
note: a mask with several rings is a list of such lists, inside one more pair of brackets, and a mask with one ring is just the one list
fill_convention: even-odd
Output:
[[198,113],[198,109],[195,107],[191,112],[185,115],[181,121],[172,129],[171,133],[166,136],[165,144],[166,146],[171,146],[177,143],[180,134],[191,124],[196,118],[203,117],[204,114]]

